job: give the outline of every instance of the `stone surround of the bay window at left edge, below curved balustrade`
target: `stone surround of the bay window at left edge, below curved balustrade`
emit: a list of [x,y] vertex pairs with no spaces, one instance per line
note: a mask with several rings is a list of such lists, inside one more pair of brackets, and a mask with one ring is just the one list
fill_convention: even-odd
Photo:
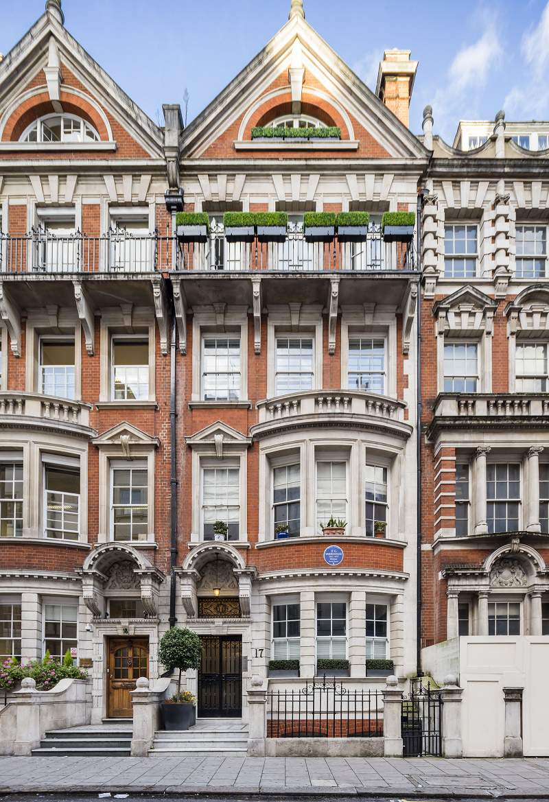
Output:
[[[33,541],[47,542],[52,545],[87,544],[87,442],[75,444],[74,437],[60,434],[36,432],[30,437],[24,431],[21,435],[12,432],[10,439],[2,440],[2,452],[21,452],[23,466],[23,504],[22,504],[22,537],[2,537],[0,545],[6,542],[22,543],[31,538]],[[43,455],[54,455],[63,463],[63,458],[79,460],[80,502],[79,502],[79,539],[78,541],[61,541],[47,538],[44,535],[44,487],[43,487]],[[31,503],[32,500],[32,503]]]

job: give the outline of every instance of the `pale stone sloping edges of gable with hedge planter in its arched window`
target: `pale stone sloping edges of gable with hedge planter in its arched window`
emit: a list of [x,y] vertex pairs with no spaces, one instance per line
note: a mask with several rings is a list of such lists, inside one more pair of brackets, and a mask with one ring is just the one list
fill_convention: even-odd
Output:
[[310,71],[315,83],[325,87],[329,96],[355,117],[389,156],[427,158],[429,152],[417,137],[299,15],[289,19],[185,129],[181,144],[186,157],[200,157],[246,114],[254,101],[291,67],[296,43],[301,48],[306,75]]

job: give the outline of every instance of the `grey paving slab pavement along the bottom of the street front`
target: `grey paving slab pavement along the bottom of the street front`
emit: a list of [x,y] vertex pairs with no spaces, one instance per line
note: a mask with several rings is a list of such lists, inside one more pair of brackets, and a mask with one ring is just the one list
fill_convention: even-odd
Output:
[[0,757],[0,794],[549,800],[549,759]]

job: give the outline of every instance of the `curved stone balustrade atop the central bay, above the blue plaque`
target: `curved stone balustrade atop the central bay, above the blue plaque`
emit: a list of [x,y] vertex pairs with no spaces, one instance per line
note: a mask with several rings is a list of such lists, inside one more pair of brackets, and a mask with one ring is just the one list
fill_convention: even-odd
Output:
[[298,428],[346,427],[385,431],[407,438],[404,401],[352,390],[309,390],[258,402],[259,422],[250,434],[261,438]]

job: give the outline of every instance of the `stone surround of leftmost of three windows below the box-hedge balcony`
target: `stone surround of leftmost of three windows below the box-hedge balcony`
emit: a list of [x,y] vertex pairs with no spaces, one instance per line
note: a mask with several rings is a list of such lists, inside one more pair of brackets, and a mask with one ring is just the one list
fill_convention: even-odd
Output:
[[[204,334],[236,334],[240,338],[240,399],[238,401],[205,401],[202,399],[202,337]],[[193,307],[193,407],[227,407],[248,405],[248,307],[225,303]]]

